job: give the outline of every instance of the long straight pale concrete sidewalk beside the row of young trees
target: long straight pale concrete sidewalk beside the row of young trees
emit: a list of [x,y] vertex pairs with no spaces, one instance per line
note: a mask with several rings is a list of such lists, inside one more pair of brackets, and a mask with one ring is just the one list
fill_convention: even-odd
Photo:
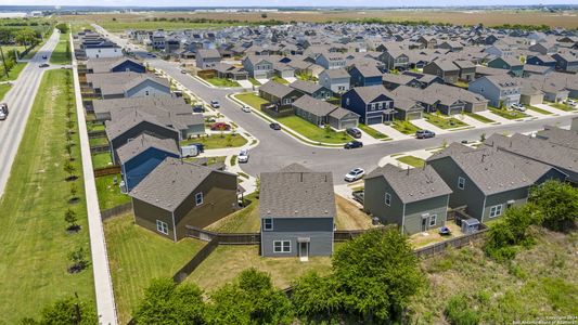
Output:
[[[73,41],[70,35],[70,42]],[[90,144],[88,142],[87,121],[85,107],[80,95],[80,82],[78,80],[78,66],[73,55],[74,89],[76,93],[76,114],[78,117],[78,133],[80,136],[80,154],[82,156],[82,177],[87,196],[88,226],[90,233],[90,252],[92,255],[92,271],[94,276],[94,290],[97,297],[97,312],[99,323],[116,325],[116,307],[113,294],[113,281],[108,269],[108,255],[97,195],[97,184],[92,170]]]

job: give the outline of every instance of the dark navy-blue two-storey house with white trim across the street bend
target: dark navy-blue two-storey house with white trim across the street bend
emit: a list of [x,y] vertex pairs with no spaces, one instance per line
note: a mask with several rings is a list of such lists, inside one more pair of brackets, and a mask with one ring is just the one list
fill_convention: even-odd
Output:
[[349,90],[342,95],[342,106],[357,113],[365,125],[383,123],[396,113],[394,100],[383,84]]

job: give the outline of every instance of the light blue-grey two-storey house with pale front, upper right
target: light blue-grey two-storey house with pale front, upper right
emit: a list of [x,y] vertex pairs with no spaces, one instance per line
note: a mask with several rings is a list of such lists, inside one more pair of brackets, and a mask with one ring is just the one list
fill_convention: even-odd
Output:
[[493,107],[510,107],[519,103],[522,84],[509,75],[496,75],[470,82],[467,90],[483,95]]

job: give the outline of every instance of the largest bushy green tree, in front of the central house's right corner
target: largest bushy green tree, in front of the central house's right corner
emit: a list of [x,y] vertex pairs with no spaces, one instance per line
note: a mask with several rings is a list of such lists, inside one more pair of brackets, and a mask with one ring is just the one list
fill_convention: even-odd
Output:
[[423,274],[398,229],[372,230],[342,246],[333,257],[345,308],[365,323],[399,320],[423,286]]

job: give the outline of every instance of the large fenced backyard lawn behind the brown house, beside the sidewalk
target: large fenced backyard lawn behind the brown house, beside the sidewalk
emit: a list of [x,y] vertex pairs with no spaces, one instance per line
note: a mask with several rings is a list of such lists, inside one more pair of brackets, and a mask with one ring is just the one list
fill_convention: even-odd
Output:
[[174,243],[133,222],[132,214],[104,222],[119,324],[127,324],[155,277],[172,277],[203,247],[185,238]]

